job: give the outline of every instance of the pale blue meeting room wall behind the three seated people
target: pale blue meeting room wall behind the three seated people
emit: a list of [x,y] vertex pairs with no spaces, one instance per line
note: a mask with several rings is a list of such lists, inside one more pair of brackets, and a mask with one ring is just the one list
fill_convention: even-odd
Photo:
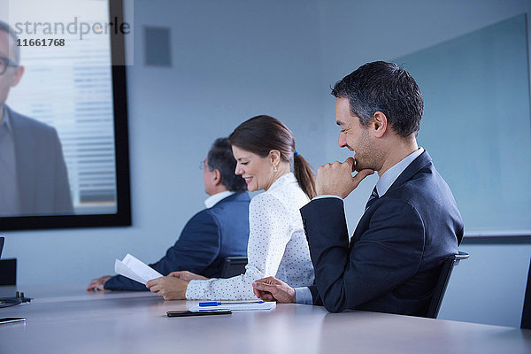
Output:
[[[203,207],[197,166],[209,144],[244,119],[270,114],[312,165],[337,148],[329,86],[358,65],[427,48],[522,12],[525,0],[135,1],[128,67],[133,227],[7,232],[19,284],[112,273],[131,252],[155,261]],[[173,67],[142,65],[142,26],[172,28]],[[323,136],[324,133],[324,136]],[[347,200],[350,229],[375,177]],[[529,244],[464,244],[440,318],[519,326]]]

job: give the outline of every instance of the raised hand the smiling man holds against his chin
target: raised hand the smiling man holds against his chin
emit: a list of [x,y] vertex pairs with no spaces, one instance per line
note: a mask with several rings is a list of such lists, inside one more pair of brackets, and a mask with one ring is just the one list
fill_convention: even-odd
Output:
[[373,170],[361,170],[352,177],[354,158],[347,158],[345,162],[335,161],[332,164],[321,165],[317,170],[315,188],[317,195],[334,195],[345,198],[358,187],[359,182],[374,173]]

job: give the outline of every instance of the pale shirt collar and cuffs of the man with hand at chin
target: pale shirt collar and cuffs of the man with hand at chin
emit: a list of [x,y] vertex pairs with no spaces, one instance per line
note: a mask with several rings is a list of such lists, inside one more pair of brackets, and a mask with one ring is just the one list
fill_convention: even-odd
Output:
[[[415,151],[413,151],[411,154],[409,154],[407,157],[400,160],[400,162],[393,165],[389,170],[387,170],[385,173],[383,173],[380,178],[378,179],[378,182],[376,183],[376,191],[378,192],[378,196],[381,197],[384,194],[387,193],[389,188],[393,185],[393,183],[396,181],[398,176],[404,172],[404,170],[407,168],[408,165],[410,165],[415,158],[418,158],[420,154],[424,152],[423,148],[419,148]],[[333,195],[326,195],[326,196],[316,196],[313,199],[320,199],[324,197],[335,197],[342,199],[341,196],[333,196]],[[295,289],[296,294],[296,303],[297,304],[313,304],[312,300],[312,292],[308,288],[296,288]]]

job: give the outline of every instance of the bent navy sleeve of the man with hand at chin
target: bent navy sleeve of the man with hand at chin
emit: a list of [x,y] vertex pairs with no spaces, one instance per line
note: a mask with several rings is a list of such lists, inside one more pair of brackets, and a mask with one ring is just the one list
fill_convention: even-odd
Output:
[[301,210],[319,296],[329,312],[356,309],[414,275],[424,249],[419,212],[407,202],[376,205],[369,227],[352,248],[342,201],[319,199]]

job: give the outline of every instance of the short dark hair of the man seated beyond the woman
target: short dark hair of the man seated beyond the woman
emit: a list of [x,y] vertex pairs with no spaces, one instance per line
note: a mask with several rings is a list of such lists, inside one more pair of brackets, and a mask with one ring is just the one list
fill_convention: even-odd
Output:
[[232,192],[247,190],[247,183],[242,176],[235,174],[236,160],[228,138],[219,138],[208,151],[207,165],[210,171],[219,170],[221,184]]

